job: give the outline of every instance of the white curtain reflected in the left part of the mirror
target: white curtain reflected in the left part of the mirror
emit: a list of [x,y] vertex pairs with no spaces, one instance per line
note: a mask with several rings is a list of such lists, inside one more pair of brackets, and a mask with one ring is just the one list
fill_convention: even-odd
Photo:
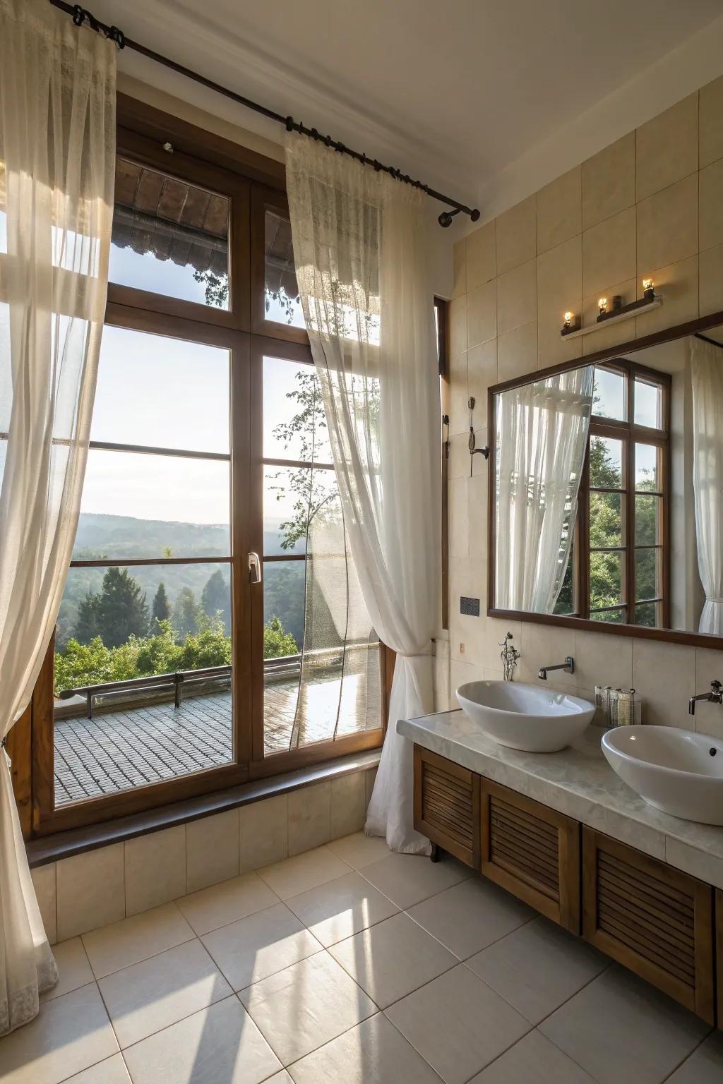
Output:
[[495,605],[552,614],[567,568],[594,369],[498,396]]

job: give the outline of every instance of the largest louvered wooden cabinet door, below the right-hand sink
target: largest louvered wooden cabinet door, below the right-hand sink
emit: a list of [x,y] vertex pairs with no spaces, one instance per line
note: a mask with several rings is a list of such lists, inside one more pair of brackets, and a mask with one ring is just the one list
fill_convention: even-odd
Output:
[[710,885],[592,828],[582,869],[585,939],[714,1023]]

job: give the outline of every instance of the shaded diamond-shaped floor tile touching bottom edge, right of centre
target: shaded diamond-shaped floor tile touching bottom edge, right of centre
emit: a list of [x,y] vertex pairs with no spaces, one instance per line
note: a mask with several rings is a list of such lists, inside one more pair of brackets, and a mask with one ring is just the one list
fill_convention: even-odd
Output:
[[464,1084],[530,1030],[463,964],[386,1012],[447,1084]]

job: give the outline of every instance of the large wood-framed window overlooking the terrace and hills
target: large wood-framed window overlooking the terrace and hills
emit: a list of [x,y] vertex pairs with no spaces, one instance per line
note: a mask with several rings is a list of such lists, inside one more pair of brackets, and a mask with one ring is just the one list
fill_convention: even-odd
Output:
[[244,176],[203,160],[203,137],[188,152],[119,128],[88,467],[34,698],[40,830],[382,740],[388,653],[349,553],[285,196],[258,156]]

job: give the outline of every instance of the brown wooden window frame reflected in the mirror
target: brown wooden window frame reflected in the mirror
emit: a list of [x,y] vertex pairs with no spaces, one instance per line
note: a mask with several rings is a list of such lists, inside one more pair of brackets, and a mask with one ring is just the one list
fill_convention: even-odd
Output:
[[[589,619],[595,624],[605,623],[599,618],[592,617],[593,614],[617,614],[623,617],[621,623],[632,624],[637,629],[650,628],[649,625],[637,624],[635,621],[635,609],[645,603],[660,604],[661,624],[656,628],[664,629],[670,622],[670,396],[672,379],[668,373],[649,369],[627,358],[610,358],[596,369],[615,372],[623,377],[623,402],[624,418],[603,417],[593,414],[590,422],[590,433],[588,436],[588,447],[585,451],[585,462],[580,482],[578,514],[573,538],[573,598],[576,603],[574,616]],[[635,412],[635,380],[643,380],[655,384],[660,388],[661,396],[661,426],[650,428],[648,426],[636,425],[634,422]],[[609,437],[619,440],[622,449],[622,478],[619,489],[598,489],[590,485],[590,446],[594,437]],[[638,545],[635,542],[635,444],[653,444],[660,449],[660,489],[651,495],[659,496],[661,501],[660,517],[660,541],[655,545]],[[621,496],[621,539],[619,546],[607,547],[606,551],[591,550],[590,546],[590,495],[593,492],[618,493]],[[638,550],[655,549],[661,554],[660,560],[660,592],[655,598],[636,599],[635,585],[635,555]],[[606,607],[604,609],[592,610],[590,606],[590,558],[593,552],[620,553],[621,560],[624,562],[624,575],[622,576],[620,605]]]

